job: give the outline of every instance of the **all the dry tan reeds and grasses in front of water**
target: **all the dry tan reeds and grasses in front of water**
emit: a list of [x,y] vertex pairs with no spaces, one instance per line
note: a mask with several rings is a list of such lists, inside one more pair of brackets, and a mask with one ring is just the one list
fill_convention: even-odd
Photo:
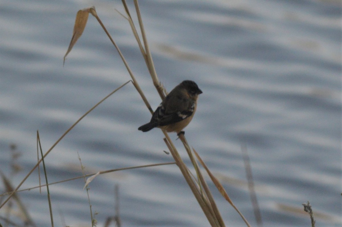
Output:
[[[126,2],[123,0],[122,1],[124,9],[125,9],[125,15],[121,14],[124,18],[126,18],[131,26],[132,32],[134,34],[134,37],[136,38],[137,44],[139,45],[141,54],[143,56],[143,59],[145,60],[146,66],[148,68],[148,71],[150,73],[151,79],[153,84],[155,85],[158,94],[160,95],[161,99],[164,99],[167,92],[165,90],[165,88],[163,87],[163,85],[159,82],[155,68],[154,68],[154,64],[153,64],[153,60],[152,60],[152,56],[150,54],[149,51],[149,47],[148,47],[148,42],[145,36],[145,30],[144,30],[144,26],[143,26],[143,22],[142,22],[142,18],[141,18],[141,14],[140,14],[140,10],[139,10],[139,5],[138,2],[136,0],[134,0],[134,5],[135,5],[135,11],[136,11],[136,15],[138,18],[138,22],[139,22],[139,28],[140,28],[140,32],[141,32],[141,37],[142,37],[142,41],[140,40],[139,36],[138,36],[138,31],[136,30],[136,27],[133,23],[133,20],[131,18],[131,14],[130,11],[128,9],[128,6],[126,4]],[[205,169],[205,171],[207,172],[207,174],[210,176],[210,179],[212,180],[212,182],[214,183],[214,185],[218,188],[218,190],[220,191],[220,193],[222,194],[223,198],[226,199],[228,201],[228,203],[240,214],[241,218],[243,219],[243,221],[245,222],[246,226],[250,226],[249,223],[247,222],[247,220],[245,219],[245,217],[241,214],[241,212],[235,207],[235,205],[233,204],[233,202],[231,201],[231,199],[229,198],[229,196],[227,195],[225,189],[223,188],[223,186],[221,185],[221,183],[219,182],[218,179],[215,178],[215,176],[210,172],[210,170],[208,169],[208,167],[205,165],[205,163],[203,162],[203,160],[200,158],[200,156],[198,155],[198,153],[195,151],[194,148],[192,148],[186,141],[186,138],[184,136],[184,134],[180,134],[180,140],[182,141],[184,148],[186,150],[186,152],[188,153],[188,156],[192,162],[193,167],[195,168],[196,173],[193,174],[190,172],[189,168],[184,164],[183,160],[181,159],[175,145],[173,144],[172,140],[170,139],[169,135],[163,131],[163,134],[165,136],[165,138],[163,139],[165,141],[165,144],[167,145],[169,152],[172,154],[173,158],[174,158],[174,162],[169,162],[169,163],[160,163],[160,164],[153,164],[153,165],[145,165],[145,166],[134,166],[134,167],[127,167],[127,168],[121,168],[121,169],[113,169],[113,170],[107,170],[107,171],[101,171],[98,173],[93,173],[93,174],[86,174],[83,172],[82,176],[79,176],[77,178],[73,178],[73,179],[67,179],[64,181],[60,181],[60,182],[53,182],[53,183],[48,183],[48,175],[46,174],[45,171],[45,165],[44,165],[44,158],[47,158],[47,155],[53,150],[53,148],[56,146],[56,144],[58,144],[63,137],[76,125],[80,122],[80,120],[82,120],[82,118],[84,116],[86,116],[88,113],[90,113],[94,108],[96,108],[99,104],[101,104],[105,99],[107,99],[109,96],[113,95],[117,90],[119,90],[120,88],[122,88],[123,86],[131,83],[135,88],[136,91],[140,94],[141,98],[143,99],[143,101],[146,104],[147,109],[151,112],[151,114],[153,113],[152,108],[150,107],[143,91],[141,90],[138,81],[135,79],[132,71],[130,70],[128,63],[126,62],[124,56],[122,55],[122,53],[120,52],[119,47],[116,45],[115,41],[111,38],[110,34],[108,33],[107,29],[105,28],[105,26],[103,25],[103,23],[101,22],[100,17],[98,17],[95,8],[91,7],[88,9],[83,9],[83,10],[79,10],[77,12],[76,15],[76,20],[75,20],[75,26],[74,26],[74,32],[73,32],[73,37],[71,39],[69,48],[64,56],[64,61],[65,61],[65,57],[68,55],[68,53],[71,51],[71,49],[73,48],[73,46],[75,45],[76,41],[78,40],[78,38],[82,35],[82,32],[84,30],[84,28],[86,27],[87,24],[87,20],[88,20],[88,16],[89,14],[91,14],[92,16],[94,16],[98,23],[102,26],[103,30],[106,32],[108,38],[110,39],[110,41],[113,43],[113,45],[116,47],[118,54],[120,55],[124,65],[126,66],[130,76],[131,76],[131,80],[127,81],[126,83],[122,84],[120,87],[118,87],[117,89],[115,89],[113,92],[111,92],[108,96],[106,96],[105,98],[103,98],[100,102],[98,102],[93,108],[91,108],[89,111],[87,111],[83,116],[81,116],[74,125],[72,125],[61,137],[60,139],[58,139],[54,145],[52,145],[52,147],[49,148],[49,150],[47,152],[45,152],[45,154],[43,154],[43,151],[41,149],[41,144],[40,144],[40,140],[39,140],[39,133],[37,131],[37,154],[38,154],[38,161],[37,164],[31,169],[31,171],[26,175],[26,177],[21,181],[21,183],[14,188],[10,182],[10,180],[8,178],[6,178],[6,176],[0,172],[1,174],[1,178],[3,181],[3,184],[5,185],[5,189],[6,189],[6,193],[0,195],[0,209],[4,209],[6,208],[7,210],[11,210],[11,208],[13,207],[13,203],[16,203],[17,207],[21,210],[22,213],[24,213],[24,217],[23,217],[23,224],[16,224],[14,222],[11,221],[11,217],[10,217],[10,212],[8,212],[8,215],[6,215],[5,217],[0,216],[0,220],[2,220],[3,223],[5,223],[6,225],[4,226],[35,226],[34,221],[32,220],[32,218],[30,217],[29,213],[26,211],[25,206],[22,204],[21,200],[19,199],[18,196],[18,192],[19,191],[23,191],[23,190],[29,190],[29,189],[33,189],[33,188],[38,188],[38,187],[47,187],[48,189],[48,203],[49,203],[49,207],[50,207],[50,217],[51,217],[51,226],[54,226],[53,224],[53,211],[52,211],[52,206],[51,206],[51,201],[50,201],[50,193],[49,193],[49,188],[48,186],[51,184],[56,184],[56,183],[61,183],[61,182],[65,182],[65,181],[70,181],[70,180],[75,180],[75,179],[79,179],[79,178],[84,178],[85,181],[85,185],[84,188],[87,188],[87,194],[88,194],[88,199],[89,199],[89,207],[90,207],[90,219],[91,219],[91,226],[96,226],[97,221],[96,221],[96,212],[94,213],[92,211],[92,206],[91,206],[91,200],[89,197],[89,191],[88,191],[88,185],[91,183],[91,181],[100,174],[105,174],[108,172],[113,172],[113,171],[121,171],[121,170],[125,170],[125,169],[133,169],[133,168],[146,168],[146,167],[151,167],[151,166],[158,166],[158,165],[171,165],[171,164],[176,164],[177,167],[180,169],[180,171],[182,172],[184,179],[186,180],[187,184],[189,185],[190,189],[192,190],[192,193],[194,194],[196,200],[198,201],[198,204],[200,205],[204,215],[207,217],[208,222],[210,223],[211,226],[225,226],[225,223],[223,222],[223,218],[220,214],[220,211],[218,210],[215,200],[212,196],[211,191],[209,190],[209,187],[203,177],[203,174],[200,170],[200,166],[198,163],[200,163],[200,165]],[[245,149],[242,149],[245,150]],[[15,174],[16,171],[18,171],[20,168],[19,166],[16,164],[16,159],[19,156],[18,153],[16,152],[16,148],[15,146],[11,146],[11,151],[13,153],[13,164],[12,166],[12,170],[13,173]],[[40,154],[40,156],[39,156]],[[195,156],[194,156],[195,155]],[[244,153],[245,156],[245,164],[246,164],[246,170],[247,170],[247,178],[249,179],[249,189],[251,192],[251,197],[252,197],[252,204],[254,209],[254,213],[255,216],[258,220],[258,226],[262,226],[262,221],[261,221],[261,215],[260,215],[260,211],[258,208],[258,204],[257,204],[257,200],[256,200],[256,196],[255,196],[255,192],[254,192],[254,185],[253,185],[253,181],[252,181],[252,175],[251,175],[251,168],[249,166],[249,160],[248,160],[248,155],[247,155],[247,150],[245,150]],[[39,158],[41,157],[41,158]],[[195,158],[196,157],[196,158]],[[81,164],[81,169],[83,170],[84,167],[82,165],[81,162],[81,158],[80,159],[80,164]],[[45,173],[45,184],[44,185],[39,185],[37,187],[33,187],[33,188],[29,188],[29,189],[22,189],[19,190],[19,188],[21,187],[21,185],[26,181],[26,179],[28,178],[28,176],[38,167],[40,167],[40,163],[42,162],[43,164],[43,170]],[[88,178],[89,177],[89,178]],[[87,179],[88,178],[88,179]],[[39,177],[40,180],[40,177]],[[108,217],[105,221],[105,226],[109,226],[111,223],[115,223],[116,226],[120,226],[121,225],[121,221],[120,221],[120,216],[119,216],[119,193],[118,193],[118,186],[116,186],[116,192],[115,192],[115,196],[116,196],[116,209],[115,209],[115,213],[116,215],[112,216],[112,217]],[[5,195],[8,195],[8,197],[6,199],[4,199]],[[309,204],[307,204],[309,205]],[[311,207],[310,207],[311,210]],[[312,213],[312,210],[311,210]],[[312,217],[313,218],[313,217]],[[312,219],[313,220],[313,219]],[[104,221],[104,220],[103,220]],[[205,224],[207,225],[207,224]],[[66,226],[66,225],[65,225]],[[313,221],[313,226],[314,226],[314,221]],[[2,225],[0,224],[0,227],[2,227]]]

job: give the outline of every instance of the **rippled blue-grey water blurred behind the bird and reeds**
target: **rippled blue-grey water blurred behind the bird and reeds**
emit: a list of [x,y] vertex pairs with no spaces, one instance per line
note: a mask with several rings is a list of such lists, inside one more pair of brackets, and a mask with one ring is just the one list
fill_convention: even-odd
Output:
[[[152,107],[160,103],[129,24],[114,10],[124,12],[120,1],[2,1],[0,165],[9,175],[9,145],[16,144],[23,171],[11,178],[13,186],[36,162],[37,129],[47,151],[130,79],[91,16],[63,67],[76,12],[92,5]],[[160,81],[169,91],[184,79],[202,89],[187,140],[248,221],[256,226],[241,144],[248,147],[264,226],[309,226],[308,216],[284,208],[302,210],[307,200],[317,226],[341,226],[340,1],[140,1],[140,7]],[[126,85],[45,159],[49,182],[81,174],[77,153],[87,172],[172,161],[159,129],[137,130],[149,118]],[[181,142],[175,144],[189,163]],[[21,188],[38,185],[37,175]],[[226,225],[245,226],[208,182]],[[160,166],[97,177],[90,199],[98,226],[114,215],[115,184],[123,226],[209,225],[178,168]],[[90,225],[82,187],[82,179],[50,187],[56,226],[62,219]],[[37,226],[51,225],[45,194],[19,193]]]

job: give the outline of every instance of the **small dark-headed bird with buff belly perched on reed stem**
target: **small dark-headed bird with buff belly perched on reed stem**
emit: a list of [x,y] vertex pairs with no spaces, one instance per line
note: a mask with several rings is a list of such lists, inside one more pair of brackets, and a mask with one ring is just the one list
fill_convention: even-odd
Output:
[[194,81],[185,80],[165,97],[149,123],[138,128],[147,132],[155,127],[165,129],[167,132],[184,133],[185,128],[196,112],[198,95],[202,94]]

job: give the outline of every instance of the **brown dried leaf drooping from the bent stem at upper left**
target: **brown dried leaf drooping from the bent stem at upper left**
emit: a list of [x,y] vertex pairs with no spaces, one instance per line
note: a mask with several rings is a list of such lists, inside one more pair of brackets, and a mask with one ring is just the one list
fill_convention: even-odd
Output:
[[63,65],[65,62],[66,56],[71,51],[71,49],[73,48],[73,46],[77,42],[78,38],[81,37],[81,35],[84,31],[84,28],[86,27],[87,21],[88,21],[89,11],[91,11],[91,10],[95,11],[95,8],[94,7],[87,8],[87,9],[79,10],[77,12],[76,19],[75,19],[75,25],[74,25],[74,31],[73,31],[73,38],[71,38],[68,50],[67,50],[66,54],[64,55]]

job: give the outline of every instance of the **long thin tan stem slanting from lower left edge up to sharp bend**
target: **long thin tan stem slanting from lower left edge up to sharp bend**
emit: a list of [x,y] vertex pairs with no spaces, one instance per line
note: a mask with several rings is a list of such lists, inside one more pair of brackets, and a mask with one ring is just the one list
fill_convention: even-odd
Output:
[[[100,105],[104,100],[106,100],[109,96],[113,95],[116,91],[121,89],[123,86],[128,84],[129,82],[132,82],[131,80],[127,81],[126,83],[122,84],[120,87],[112,91],[109,95],[107,95],[105,98],[103,98],[100,102],[96,103],[90,110],[88,110],[85,114],[83,114],[68,130],[66,130],[63,135],[50,147],[50,149],[44,154],[42,158],[45,158],[52,149],[68,134],[68,132],[73,129],[85,116],[87,116],[92,110],[94,110],[98,105]],[[30,172],[25,176],[25,178],[19,183],[19,185],[12,191],[12,193],[9,195],[9,197],[0,205],[0,209],[3,207],[3,205],[6,204],[6,202],[13,196],[13,194],[19,189],[20,186],[26,181],[29,175],[37,168],[39,163],[42,161],[42,158],[37,162],[37,164],[30,170]]]

